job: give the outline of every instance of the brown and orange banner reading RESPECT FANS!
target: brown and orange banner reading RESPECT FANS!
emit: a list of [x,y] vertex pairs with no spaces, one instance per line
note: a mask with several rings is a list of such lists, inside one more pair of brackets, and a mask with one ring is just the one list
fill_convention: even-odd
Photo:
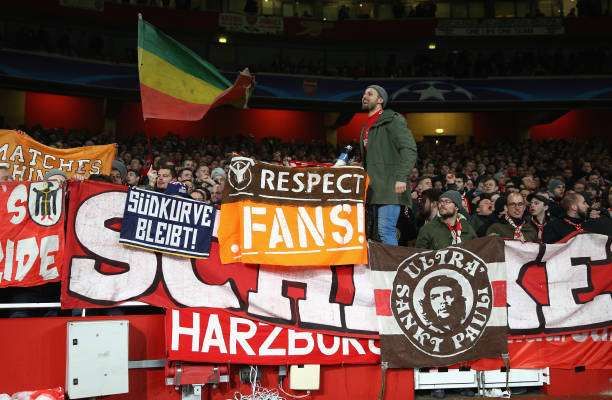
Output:
[[365,264],[363,168],[290,168],[234,157],[221,205],[221,261]]

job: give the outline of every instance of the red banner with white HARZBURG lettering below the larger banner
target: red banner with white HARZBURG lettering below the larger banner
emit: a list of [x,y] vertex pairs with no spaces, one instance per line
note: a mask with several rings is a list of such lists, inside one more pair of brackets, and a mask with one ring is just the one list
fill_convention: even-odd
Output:
[[168,359],[230,364],[376,364],[378,340],[284,328],[210,309],[166,311]]

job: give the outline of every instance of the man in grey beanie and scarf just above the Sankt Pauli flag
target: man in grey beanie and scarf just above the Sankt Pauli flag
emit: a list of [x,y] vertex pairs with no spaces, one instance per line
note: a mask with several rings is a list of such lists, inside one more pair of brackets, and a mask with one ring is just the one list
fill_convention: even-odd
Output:
[[463,216],[461,194],[448,190],[438,200],[439,216],[421,228],[415,246],[422,249],[438,250],[476,238],[472,225]]

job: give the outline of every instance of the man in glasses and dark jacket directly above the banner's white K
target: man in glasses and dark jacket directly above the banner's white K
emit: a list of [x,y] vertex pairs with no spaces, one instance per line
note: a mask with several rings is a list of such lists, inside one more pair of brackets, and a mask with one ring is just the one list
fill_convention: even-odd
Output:
[[500,236],[522,242],[537,242],[538,233],[525,219],[526,202],[520,193],[506,196],[506,213],[487,229],[487,236]]

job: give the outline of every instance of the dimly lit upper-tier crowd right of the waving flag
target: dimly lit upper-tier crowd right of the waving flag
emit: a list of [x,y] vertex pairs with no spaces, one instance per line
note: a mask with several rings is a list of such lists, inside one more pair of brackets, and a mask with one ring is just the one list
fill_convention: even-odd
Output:
[[446,76],[453,78],[488,78],[509,76],[562,76],[612,74],[612,48],[582,50],[512,50],[512,51],[423,51],[409,61],[390,55],[386,63],[333,65],[322,58],[299,60],[278,57],[270,65],[255,65],[257,72],[295,75],[338,76],[346,78],[413,78]]

